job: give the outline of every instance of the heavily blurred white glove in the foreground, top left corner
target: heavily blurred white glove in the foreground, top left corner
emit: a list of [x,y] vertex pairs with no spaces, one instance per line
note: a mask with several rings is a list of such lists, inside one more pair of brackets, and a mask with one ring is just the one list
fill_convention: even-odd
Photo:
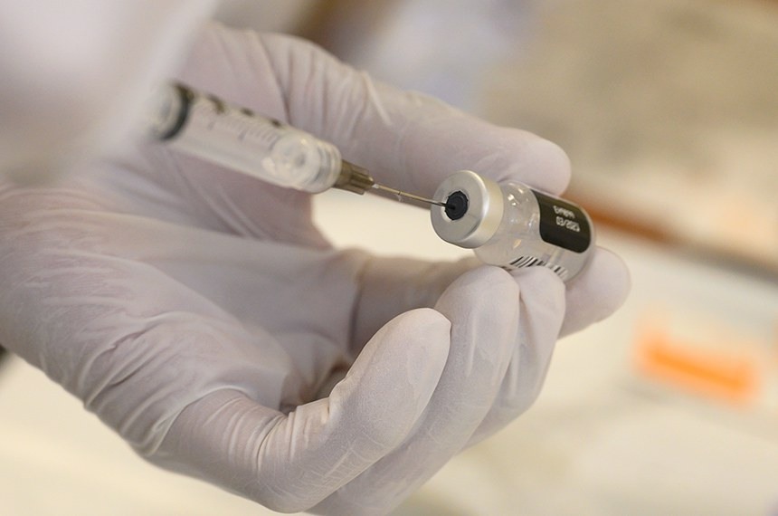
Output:
[[0,0],[0,175],[42,182],[119,139],[212,5]]

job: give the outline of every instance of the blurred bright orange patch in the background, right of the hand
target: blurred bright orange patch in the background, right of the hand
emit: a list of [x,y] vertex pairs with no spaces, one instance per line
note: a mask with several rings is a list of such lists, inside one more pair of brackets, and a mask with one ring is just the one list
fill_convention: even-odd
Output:
[[760,387],[756,357],[747,352],[753,347],[748,343],[725,343],[726,347],[721,342],[704,346],[704,341],[673,335],[669,325],[651,318],[639,330],[636,366],[644,375],[689,393],[748,405]]

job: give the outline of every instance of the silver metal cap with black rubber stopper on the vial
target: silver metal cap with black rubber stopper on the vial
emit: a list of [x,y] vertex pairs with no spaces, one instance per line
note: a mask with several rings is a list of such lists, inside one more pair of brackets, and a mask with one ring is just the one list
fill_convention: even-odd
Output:
[[451,208],[432,206],[432,228],[446,242],[473,249],[486,244],[497,233],[503,214],[502,190],[490,179],[460,170],[438,186],[434,198],[449,204],[449,198],[454,196],[460,203],[462,195],[467,202],[456,209],[455,216]]

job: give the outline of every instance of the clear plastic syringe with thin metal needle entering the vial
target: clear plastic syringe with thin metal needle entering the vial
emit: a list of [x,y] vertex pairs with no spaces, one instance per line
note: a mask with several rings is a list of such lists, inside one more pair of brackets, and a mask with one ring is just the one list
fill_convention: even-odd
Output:
[[332,187],[384,192],[445,206],[379,185],[365,168],[342,159],[334,145],[183,84],[160,87],[147,119],[151,137],[168,147],[273,185],[312,194]]

